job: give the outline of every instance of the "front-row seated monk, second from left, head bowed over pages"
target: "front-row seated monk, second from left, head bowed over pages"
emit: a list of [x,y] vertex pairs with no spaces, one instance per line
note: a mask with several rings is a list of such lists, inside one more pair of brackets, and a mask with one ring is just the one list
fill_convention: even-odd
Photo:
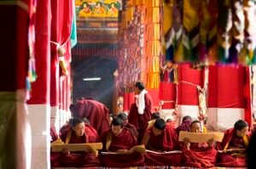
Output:
[[115,152],[117,154],[101,155],[103,166],[108,167],[130,167],[144,166],[143,154],[133,152],[125,154],[128,149],[137,145],[137,138],[130,130],[123,126],[123,121],[113,118],[111,128],[102,133],[102,151]]

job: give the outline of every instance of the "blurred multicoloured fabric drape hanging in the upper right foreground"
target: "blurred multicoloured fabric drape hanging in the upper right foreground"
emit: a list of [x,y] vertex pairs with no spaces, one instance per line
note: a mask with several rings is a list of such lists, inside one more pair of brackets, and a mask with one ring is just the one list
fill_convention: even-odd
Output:
[[[203,64],[255,63],[255,1],[167,2],[164,7],[166,59]],[[170,17],[171,13],[175,18]]]

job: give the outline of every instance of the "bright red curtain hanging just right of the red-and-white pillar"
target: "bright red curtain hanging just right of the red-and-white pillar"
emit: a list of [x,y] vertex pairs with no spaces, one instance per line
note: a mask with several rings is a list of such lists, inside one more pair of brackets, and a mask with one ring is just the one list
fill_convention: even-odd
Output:
[[[63,95],[69,93],[70,89],[64,83],[67,82],[68,78],[62,82],[62,90],[67,90],[67,93],[60,91],[60,68],[57,54],[57,48],[63,46],[66,48],[67,53],[65,54],[65,60],[67,65],[71,58],[69,37],[71,34],[72,20],[73,20],[73,2],[56,0],[51,1],[52,21],[51,21],[51,80],[50,80],[50,104],[52,106],[61,104],[61,109],[65,109],[63,101]],[[70,72],[70,71],[69,71]],[[60,97],[61,94],[61,98]],[[67,98],[69,99],[69,98]],[[61,103],[60,103],[61,102]]]

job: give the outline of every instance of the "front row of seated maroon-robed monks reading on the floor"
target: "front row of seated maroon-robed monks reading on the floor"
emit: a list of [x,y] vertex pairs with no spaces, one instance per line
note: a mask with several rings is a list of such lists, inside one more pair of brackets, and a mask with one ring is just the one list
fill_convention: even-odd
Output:
[[[124,113],[113,117],[110,127],[101,133],[83,119],[73,118],[61,127],[61,141],[65,144],[102,143],[102,149],[98,155],[86,151],[70,152],[69,149],[51,152],[51,166],[247,166],[249,135],[246,121],[236,121],[234,127],[224,132],[221,143],[213,138],[203,144],[191,143],[189,138],[178,141],[180,131],[201,132],[201,128],[201,122],[192,121],[188,115],[177,128],[157,118],[148,122],[143,138],[138,139],[137,127],[127,122]],[[52,141],[55,139],[57,137]],[[131,150],[137,145],[147,150]]]

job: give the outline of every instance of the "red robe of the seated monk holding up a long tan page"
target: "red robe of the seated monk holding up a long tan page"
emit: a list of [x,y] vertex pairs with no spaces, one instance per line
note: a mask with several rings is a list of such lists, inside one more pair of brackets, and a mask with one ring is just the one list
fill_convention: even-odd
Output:
[[207,168],[215,165],[217,150],[213,147],[190,143],[190,149],[183,148],[183,166]]

